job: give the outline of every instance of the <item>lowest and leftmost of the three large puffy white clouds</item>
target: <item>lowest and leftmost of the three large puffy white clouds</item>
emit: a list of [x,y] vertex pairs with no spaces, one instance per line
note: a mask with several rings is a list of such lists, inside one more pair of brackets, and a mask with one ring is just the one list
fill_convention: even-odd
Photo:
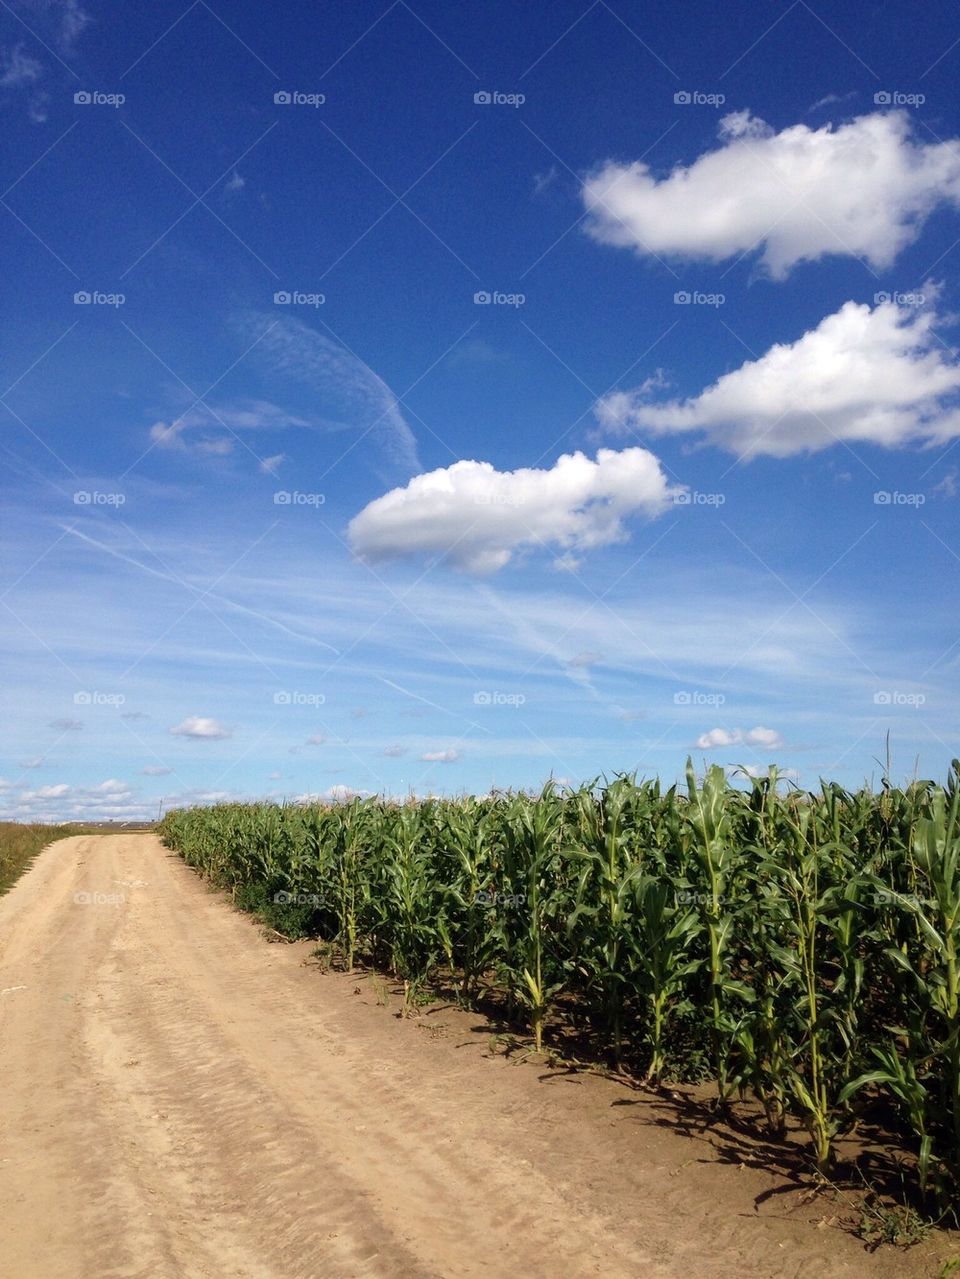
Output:
[[455,462],[415,476],[350,521],[367,560],[440,553],[456,568],[492,573],[520,547],[585,551],[626,541],[628,515],[658,515],[674,490],[647,449],[564,454],[550,469],[496,471]]

